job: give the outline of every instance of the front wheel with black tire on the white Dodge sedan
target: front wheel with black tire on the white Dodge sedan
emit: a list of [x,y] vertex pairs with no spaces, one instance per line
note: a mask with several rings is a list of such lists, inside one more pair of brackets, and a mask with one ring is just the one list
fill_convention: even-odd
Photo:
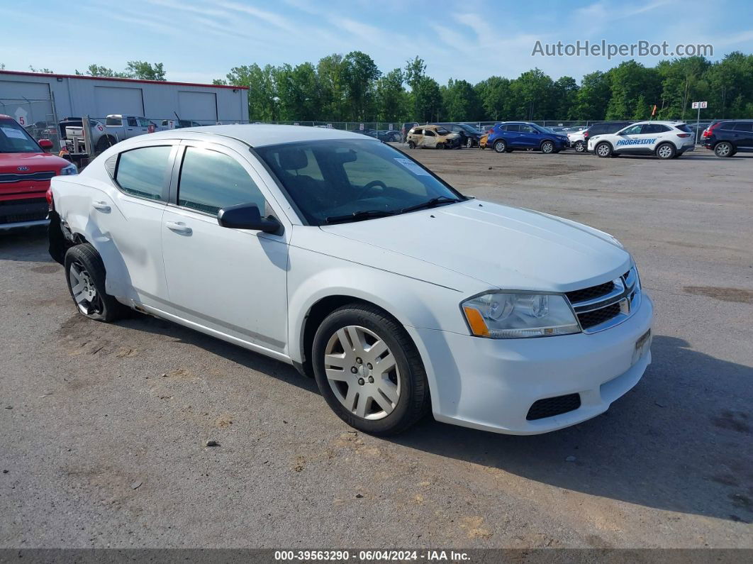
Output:
[[[376,356],[373,346],[380,349]],[[398,434],[428,412],[419,352],[403,326],[375,306],[352,303],[331,312],[316,331],[311,358],[325,401],[359,431]],[[388,363],[385,372],[377,373],[375,360]]]

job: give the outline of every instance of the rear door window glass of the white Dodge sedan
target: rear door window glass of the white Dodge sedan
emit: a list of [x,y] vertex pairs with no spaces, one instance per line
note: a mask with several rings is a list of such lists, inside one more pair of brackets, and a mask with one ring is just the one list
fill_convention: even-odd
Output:
[[120,190],[146,200],[162,200],[172,146],[142,147],[120,153],[115,181]]

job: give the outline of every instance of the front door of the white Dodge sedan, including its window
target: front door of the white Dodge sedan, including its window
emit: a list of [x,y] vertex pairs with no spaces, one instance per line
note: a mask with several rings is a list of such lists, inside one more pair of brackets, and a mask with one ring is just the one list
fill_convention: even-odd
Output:
[[257,204],[262,215],[280,215],[264,197],[259,188],[263,182],[247,157],[208,143],[184,145],[162,227],[172,313],[284,352],[287,234],[229,229],[217,222],[219,209],[239,203]]

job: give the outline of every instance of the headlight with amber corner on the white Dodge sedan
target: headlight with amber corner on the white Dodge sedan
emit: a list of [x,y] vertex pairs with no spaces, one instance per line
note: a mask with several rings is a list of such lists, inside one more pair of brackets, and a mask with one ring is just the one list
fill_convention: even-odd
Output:
[[476,337],[518,339],[581,332],[569,303],[559,294],[489,292],[460,305]]

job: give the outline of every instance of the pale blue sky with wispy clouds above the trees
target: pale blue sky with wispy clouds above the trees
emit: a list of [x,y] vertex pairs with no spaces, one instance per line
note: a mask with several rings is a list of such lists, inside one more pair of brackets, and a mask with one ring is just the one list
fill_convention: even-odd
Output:
[[[202,83],[224,78],[233,66],[316,64],[352,50],[368,53],[382,72],[418,55],[441,84],[515,78],[534,67],[580,81],[632,58],[544,57],[532,54],[536,41],[666,41],[670,50],[712,44],[712,60],[753,52],[750,0],[76,0],[62,12],[50,0],[0,0],[0,12],[14,23],[0,34],[6,70],[73,74],[92,63],[121,70],[135,59],[163,62],[169,81]],[[663,58],[636,60],[653,66]]]

